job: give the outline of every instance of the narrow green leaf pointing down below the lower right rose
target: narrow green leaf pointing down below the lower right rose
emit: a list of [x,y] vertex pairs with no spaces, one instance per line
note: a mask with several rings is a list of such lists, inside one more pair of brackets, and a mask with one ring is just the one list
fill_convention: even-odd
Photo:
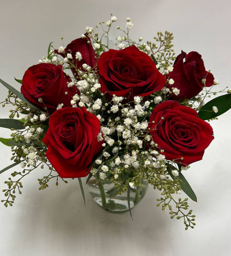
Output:
[[[176,176],[174,176],[171,173],[171,170],[175,170],[175,169],[176,167],[174,167],[173,165],[171,164],[167,165],[167,171],[169,172],[169,175],[173,180]],[[185,177],[180,171],[179,171],[179,176],[177,176],[176,178],[179,180],[181,189],[184,191],[184,193],[187,194],[193,201],[197,202],[196,194],[194,193],[191,186],[189,185],[189,182],[185,179]]]

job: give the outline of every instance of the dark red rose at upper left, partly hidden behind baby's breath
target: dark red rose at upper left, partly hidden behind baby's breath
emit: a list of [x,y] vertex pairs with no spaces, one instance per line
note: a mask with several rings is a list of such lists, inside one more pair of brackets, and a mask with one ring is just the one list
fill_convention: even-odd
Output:
[[[78,38],[70,42],[70,44],[67,45],[65,48],[65,53],[59,53],[57,50],[55,52],[57,54],[60,54],[62,57],[67,57],[67,53],[71,53],[72,60],[74,61],[74,65],[78,69],[82,69],[82,65],[86,63],[90,67],[95,67],[97,65],[97,58],[95,51],[92,47],[91,43],[87,43],[88,41],[91,41],[90,38],[85,34],[86,37],[84,38]],[[82,60],[77,61],[75,58],[76,52],[80,52],[82,55]],[[76,70],[75,68],[71,68],[72,73],[75,74]]]

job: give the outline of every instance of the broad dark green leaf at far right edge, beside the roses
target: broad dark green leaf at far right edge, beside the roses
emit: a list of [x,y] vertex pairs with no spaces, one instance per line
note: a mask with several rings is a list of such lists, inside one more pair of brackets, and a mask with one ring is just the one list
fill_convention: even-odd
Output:
[[[218,108],[218,112],[213,112],[213,106]],[[203,120],[212,119],[218,117],[224,112],[228,111],[231,108],[231,94],[225,94],[211,101],[207,102],[198,112],[199,118]]]

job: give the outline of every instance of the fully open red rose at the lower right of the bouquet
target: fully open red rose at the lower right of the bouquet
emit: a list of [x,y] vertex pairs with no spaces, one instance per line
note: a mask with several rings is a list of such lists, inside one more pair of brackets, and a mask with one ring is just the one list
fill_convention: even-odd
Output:
[[210,124],[200,119],[194,109],[173,100],[154,108],[148,127],[153,141],[164,149],[161,154],[184,166],[201,160],[204,150],[214,139]]

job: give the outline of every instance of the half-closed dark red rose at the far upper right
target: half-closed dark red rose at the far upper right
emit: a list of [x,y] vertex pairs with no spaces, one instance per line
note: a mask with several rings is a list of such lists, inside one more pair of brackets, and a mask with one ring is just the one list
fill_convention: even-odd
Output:
[[[184,61],[185,58],[185,61]],[[174,80],[173,85],[167,85],[169,89],[176,87],[180,90],[179,95],[172,95],[171,99],[191,99],[196,96],[204,87],[201,80],[206,78],[206,87],[212,86],[214,76],[212,73],[205,70],[204,61],[198,52],[181,51],[176,57],[173,65],[174,69],[169,73],[169,79]]]

